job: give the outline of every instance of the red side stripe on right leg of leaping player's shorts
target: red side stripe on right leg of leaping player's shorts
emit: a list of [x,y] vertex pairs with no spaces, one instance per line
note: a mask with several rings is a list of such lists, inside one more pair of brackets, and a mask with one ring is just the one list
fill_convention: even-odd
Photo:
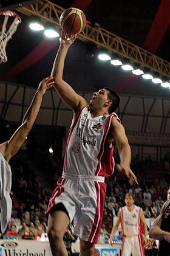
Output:
[[103,208],[104,208],[104,199],[106,184],[95,182],[95,188],[97,193],[97,209],[95,212],[94,224],[92,226],[92,231],[89,236],[90,243],[98,243],[98,237],[100,235],[101,224],[103,220]]

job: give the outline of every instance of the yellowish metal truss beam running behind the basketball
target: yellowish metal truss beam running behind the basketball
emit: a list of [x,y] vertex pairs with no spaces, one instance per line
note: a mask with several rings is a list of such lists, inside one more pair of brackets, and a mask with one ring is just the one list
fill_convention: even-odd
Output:
[[[61,13],[64,11],[62,7],[48,0],[35,1],[33,4],[18,7],[16,10],[28,16],[38,16],[46,22],[55,24],[58,28],[60,28]],[[170,78],[170,63],[168,61],[124,40],[120,36],[114,35],[114,33],[100,26],[92,26],[89,21],[87,21],[84,31],[77,37],[82,41],[94,43],[98,47],[104,47],[143,68],[147,67],[151,71],[157,72],[160,76]]]

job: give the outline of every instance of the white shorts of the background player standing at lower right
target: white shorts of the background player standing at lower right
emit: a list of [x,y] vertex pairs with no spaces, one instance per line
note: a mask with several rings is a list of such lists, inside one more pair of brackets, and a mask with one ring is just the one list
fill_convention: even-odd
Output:
[[132,237],[123,237],[121,256],[144,256],[144,247],[142,237],[134,235]]

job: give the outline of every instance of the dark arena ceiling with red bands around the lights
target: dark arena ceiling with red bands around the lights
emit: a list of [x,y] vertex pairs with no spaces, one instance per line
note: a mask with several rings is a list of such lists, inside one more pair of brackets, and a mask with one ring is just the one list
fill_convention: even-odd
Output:
[[[7,44],[7,63],[0,64],[0,80],[35,87],[52,69],[59,40],[48,40],[42,33],[29,29],[34,16],[18,11],[19,1],[5,2],[22,18],[18,30]],[[16,3],[12,5],[12,3]],[[22,1],[21,1],[22,2]],[[36,1],[23,1],[30,4]],[[41,1],[43,2],[43,1]],[[149,50],[170,61],[170,2],[169,0],[68,0],[51,1],[64,9],[78,7],[95,26],[120,36],[124,40]],[[4,8],[4,7],[3,7]],[[1,9],[3,9],[1,8]],[[77,40],[69,50],[64,78],[80,92],[92,92],[110,86],[119,94],[149,97],[170,97],[170,90],[151,81],[123,72],[120,67],[102,63],[95,58],[97,46]]]

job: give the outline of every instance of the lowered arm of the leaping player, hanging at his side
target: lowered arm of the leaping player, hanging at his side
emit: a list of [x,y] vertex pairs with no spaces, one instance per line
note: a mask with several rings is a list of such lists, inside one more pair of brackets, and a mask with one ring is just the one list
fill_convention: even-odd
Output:
[[112,136],[115,139],[115,143],[117,144],[118,153],[120,156],[120,164],[116,164],[116,168],[118,171],[123,171],[126,174],[131,185],[134,182],[138,184],[137,177],[134,175],[130,167],[131,147],[127,140],[124,127],[120,122],[118,122],[117,119],[113,118],[110,128],[112,131]]

